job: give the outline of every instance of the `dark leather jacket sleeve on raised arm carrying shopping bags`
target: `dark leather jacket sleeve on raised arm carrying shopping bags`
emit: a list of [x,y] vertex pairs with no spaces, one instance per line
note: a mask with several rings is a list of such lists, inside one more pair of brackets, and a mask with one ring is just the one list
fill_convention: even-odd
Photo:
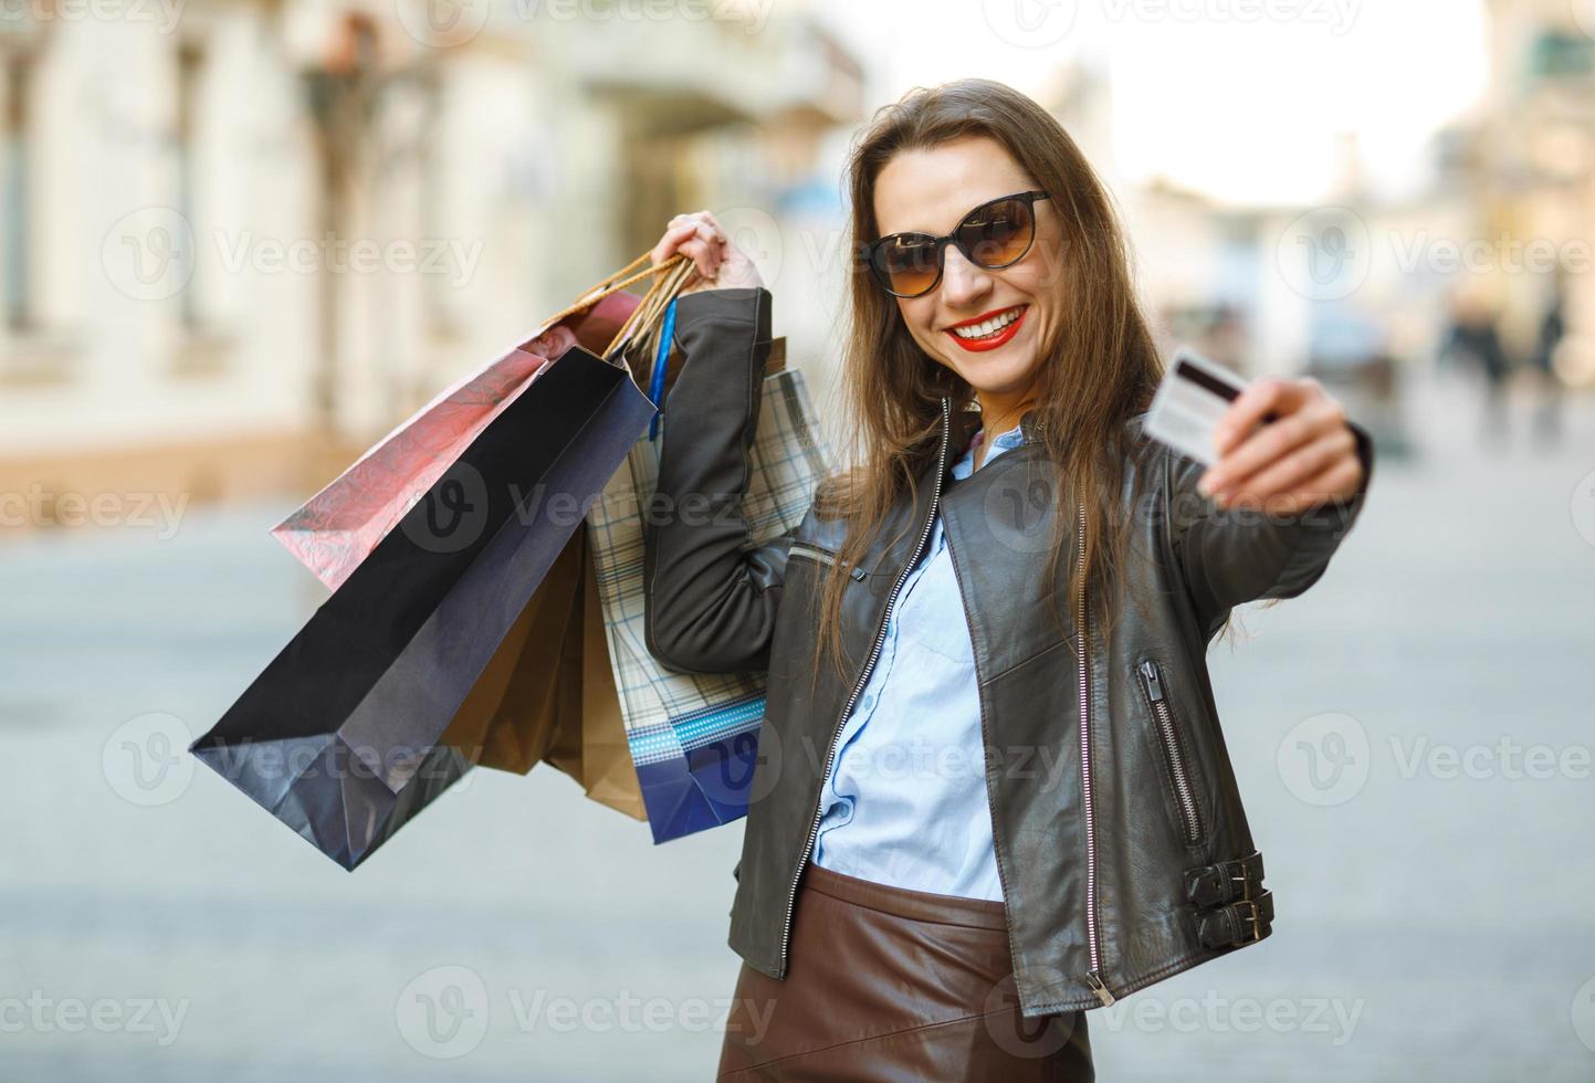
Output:
[[646,644],[679,671],[767,670],[794,534],[750,545],[742,510],[770,352],[769,290],[683,295],[675,343],[683,360],[643,528]]

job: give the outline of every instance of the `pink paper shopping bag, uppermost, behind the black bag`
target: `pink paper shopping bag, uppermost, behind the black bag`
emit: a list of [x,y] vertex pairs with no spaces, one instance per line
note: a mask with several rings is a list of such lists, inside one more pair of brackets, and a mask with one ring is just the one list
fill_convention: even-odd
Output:
[[337,590],[448,466],[571,345],[611,356],[641,300],[624,286],[633,260],[522,345],[440,391],[337,478],[271,528],[300,563]]

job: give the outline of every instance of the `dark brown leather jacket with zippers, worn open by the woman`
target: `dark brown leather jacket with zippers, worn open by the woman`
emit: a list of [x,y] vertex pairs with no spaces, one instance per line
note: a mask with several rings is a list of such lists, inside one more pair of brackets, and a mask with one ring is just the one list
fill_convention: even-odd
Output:
[[[665,410],[662,514],[644,539],[656,657],[684,671],[769,675],[732,949],[785,976],[833,743],[936,514],[975,648],[992,839],[1024,1014],[1109,1005],[1268,936],[1273,895],[1262,885],[1206,651],[1233,606],[1295,597],[1324,574],[1362,507],[1367,477],[1351,501],[1297,517],[1225,512],[1196,493],[1201,464],[1137,442],[1145,455],[1124,486],[1136,506],[1129,568],[1112,598],[1059,597],[1065,628],[1073,619],[1061,633],[1042,595],[1048,555],[1035,539],[1048,538],[1054,514],[1077,509],[1011,499],[1043,477],[1035,418],[1022,419],[1024,443],[954,482],[949,467],[979,415],[944,399],[919,499],[892,509],[849,571],[844,644],[863,662],[845,684],[821,667],[810,694],[820,576],[836,563],[847,525],[810,510],[780,538],[748,542],[740,496],[769,343],[764,289],[678,301],[684,360]],[[1137,435],[1144,416],[1126,419]],[[1372,475],[1372,440],[1351,427]],[[697,514],[684,514],[694,499]],[[1016,518],[1016,507],[1030,510]],[[1067,569],[1057,582],[1067,593]],[[1110,635],[1099,622],[1105,606],[1118,614]]]

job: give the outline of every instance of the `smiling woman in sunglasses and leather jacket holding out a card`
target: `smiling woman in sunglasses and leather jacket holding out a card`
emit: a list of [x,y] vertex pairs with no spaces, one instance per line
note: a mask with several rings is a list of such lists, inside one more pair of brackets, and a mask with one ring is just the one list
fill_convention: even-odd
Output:
[[1085,1010],[1270,931],[1206,648],[1324,573],[1370,440],[1260,380],[1211,471],[1150,442],[1118,225],[1022,94],[916,91],[849,175],[860,451],[775,541],[740,510],[770,295],[708,212],[652,252],[700,281],[649,649],[769,675],[721,1078],[1089,1080]]

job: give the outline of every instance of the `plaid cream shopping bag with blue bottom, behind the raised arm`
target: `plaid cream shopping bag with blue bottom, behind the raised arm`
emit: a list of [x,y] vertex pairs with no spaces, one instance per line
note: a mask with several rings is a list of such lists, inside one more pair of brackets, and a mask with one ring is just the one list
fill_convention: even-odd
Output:
[[[660,337],[665,348],[670,322],[667,313]],[[829,469],[802,373],[782,368],[782,352],[772,349],[766,365],[759,421],[748,451],[743,514],[753,545],[802,522],[815,486]],[[656,402],[662,372],[660,359],[654,367]],[[667,424],[668,410],[656,415],[656,426]],[[748,813],[764,721],[762,673],[675,673],[654,660],[643,638],[641,509],[657,488],[657,435],[656,427],[632,447],[587,515],[616,692],[656,844]]]

